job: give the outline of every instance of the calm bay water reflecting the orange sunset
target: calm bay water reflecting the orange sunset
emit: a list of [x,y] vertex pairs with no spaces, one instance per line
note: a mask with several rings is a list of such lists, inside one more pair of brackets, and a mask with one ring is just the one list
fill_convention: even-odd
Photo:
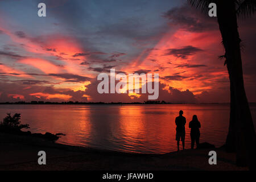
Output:
[[[185,148],[190,147],[188,123],[196,114],[200,142],[224,144],[229,105],[0,105],[6,113],[20,113],[32,133],[64,133],[57,142],[106,150],[166,153],[176,151],[175,117],[187,118]],[[256,119],[256,106],[251,106]]]

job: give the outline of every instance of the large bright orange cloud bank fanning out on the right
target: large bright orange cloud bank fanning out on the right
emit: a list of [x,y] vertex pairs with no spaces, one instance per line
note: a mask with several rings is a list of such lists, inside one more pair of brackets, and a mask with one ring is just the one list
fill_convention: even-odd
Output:
[[[125,72],[141,69],[150,70],[150,73],[159,73],[159,80],[167,85],[166,89],[172,86],[180,90],[189,89],[194,93],[201,93],[197,90],[210,90],[217,84],[214,81],[216,76],[218,78],[227,76],[225,69],[209,70],[209,67],[216,67],[216,63],[213,62],[218,61],[216,53],[222,52],[219,34],[218,31],[167,31],[154,48],[142,51],[129,67],[125,68]],[[198,48],[200,51],[188,53],[183,57],[167,52],[168,49],[179,49],[186,46]],[[189,67],[189,65],[199,66]],[[208,72],[205,72],[206,69]],[[172,79],[163,79],[165,76],[172,76]]]

